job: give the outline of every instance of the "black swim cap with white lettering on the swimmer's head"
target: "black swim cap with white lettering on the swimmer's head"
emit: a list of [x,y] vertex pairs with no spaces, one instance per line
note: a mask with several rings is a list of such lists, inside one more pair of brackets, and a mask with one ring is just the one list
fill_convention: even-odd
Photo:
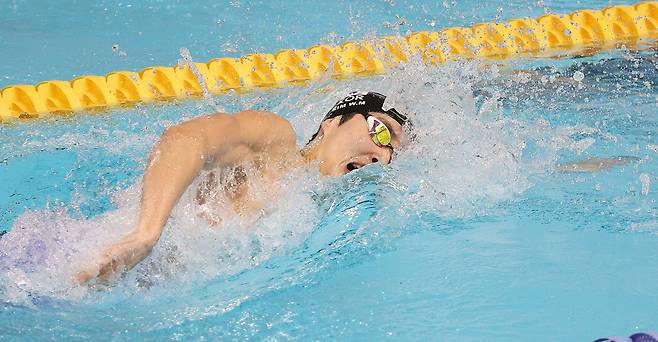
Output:
[[395,108],[390,108],[388,110],[382,108],[384,106],[384,100],[386,100],[386,96],[372,91],[351,92],[343,99],[336,102],[327,115],[324,116],[322,121],[345,114],[378,112],[390,116],[401,126],[407,125],[409,119],[405,115],[400,114]]

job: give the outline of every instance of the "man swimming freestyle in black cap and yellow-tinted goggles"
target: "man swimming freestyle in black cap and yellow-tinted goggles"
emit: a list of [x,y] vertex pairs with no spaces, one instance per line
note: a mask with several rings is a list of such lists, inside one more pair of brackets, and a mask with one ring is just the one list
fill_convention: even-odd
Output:
[[[350,93],[325,115],[303,148],[297,146],[290,122],[269,112],[216,113],[166,129],[149,155],[137,226],[79,272],[77,281],[106,280],[143,260],[203,169],[250,164],[266,183],[274,184],[291,169],[311,164],[322,175],[339,176],[368,164],[390,163],[409,121],[395,109],[384,110],[385,99],[374,92]],[[239,212],[258,205],[251,203],[244,177],[234,177],[229,196]]]

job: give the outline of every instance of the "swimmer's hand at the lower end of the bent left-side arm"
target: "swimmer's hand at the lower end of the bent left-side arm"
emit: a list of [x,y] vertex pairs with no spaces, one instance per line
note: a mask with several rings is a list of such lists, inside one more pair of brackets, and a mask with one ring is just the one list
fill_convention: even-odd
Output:
[[105,250],[93,266],[78,272],[74,281],[78,284],[107,282],[131,269],[148,256],[156,242],[157,239],[150,238],[139,231],[133,231]]

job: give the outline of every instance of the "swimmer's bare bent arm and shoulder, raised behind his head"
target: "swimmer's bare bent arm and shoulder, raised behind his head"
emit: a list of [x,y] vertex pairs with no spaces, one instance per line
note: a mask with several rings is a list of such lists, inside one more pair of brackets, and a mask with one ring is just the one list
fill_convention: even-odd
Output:
[[107,279],[144,259],[157,243],[172,209],[208,164],[230,166],[255,153],[295,145],[290,123],[272,113],[213,114],[168,128],[154,146],[142,181],[139,221],[134,231],[105,251],[78,282]]

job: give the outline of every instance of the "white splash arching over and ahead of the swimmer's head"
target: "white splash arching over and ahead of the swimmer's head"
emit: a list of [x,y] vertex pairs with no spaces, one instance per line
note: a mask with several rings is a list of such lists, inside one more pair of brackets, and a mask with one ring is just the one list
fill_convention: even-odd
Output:
[[[331,84],[304,101],[294,123],[303,136],[317,127],[323,109],[353,90],[386,94],[387,106],[409,114],[416,138],[403,148],[393,168],[413,206],[444,215],[470,216],[527,189],[529,177],[552,168],[561,149],[582,152],[594,142],[574,141],[584,127],[551,128],[504,115],[494,69],[472,63],[426,67],[414,61],[384,77]],[[491,82],[491,94],[476,99],[473,87]],[[479,103],[479,106],[478,106]],[[479,108],[478,108],[479,107]],[[534,148],[528,149],[532,144]]]

